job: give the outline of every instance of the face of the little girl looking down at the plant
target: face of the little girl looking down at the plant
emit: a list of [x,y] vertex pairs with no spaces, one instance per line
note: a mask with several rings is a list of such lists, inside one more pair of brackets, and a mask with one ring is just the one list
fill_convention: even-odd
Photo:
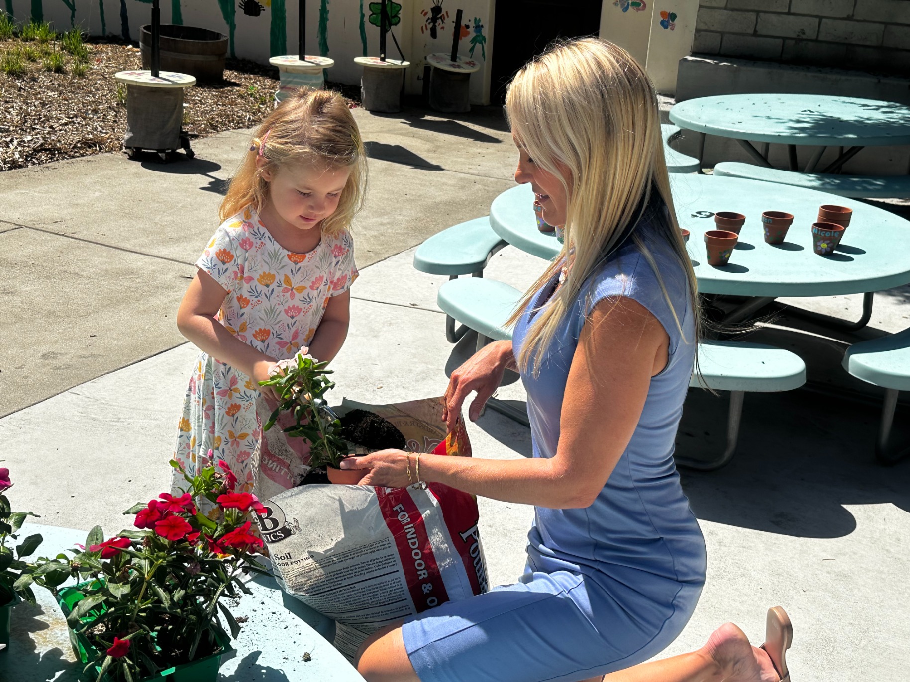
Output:
[[268,200],[275,213],[289,226],[309,230],[319,225],[339,207],[339,199],[351,168],[312,164],[264,168]]

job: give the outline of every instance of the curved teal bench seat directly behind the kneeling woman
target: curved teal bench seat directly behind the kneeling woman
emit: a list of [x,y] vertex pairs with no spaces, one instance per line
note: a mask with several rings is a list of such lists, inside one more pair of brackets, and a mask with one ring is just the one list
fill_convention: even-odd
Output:
[[[506,321],[515,310],[521,291],[491,279],[456,279],[440,286],[437,303],[447,315],[478,334],[478,344],[486,339],[511,340]],[[730,462],[739,440],[743,399],[750,392],[789,391],[805,383],[803,360],[782,348],[730,341],[703,341],[699,344],[700,376],[693,373],[690,386],[701,386],[730,394],[727,414],[726,446],[711,458],[676,456],[680,466],[703,471],[718,469]],[[515,408],[490,399],[488,405],[527,425],[526,415]]]

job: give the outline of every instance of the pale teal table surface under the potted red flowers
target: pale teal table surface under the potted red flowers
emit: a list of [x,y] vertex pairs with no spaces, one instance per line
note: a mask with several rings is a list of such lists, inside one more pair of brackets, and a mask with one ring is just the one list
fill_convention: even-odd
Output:
[[[34,533],[40,533],[44,542],[33,557],[55,557],[85,543],[87,535],[84,530],[26,524],[20,538]],[[283,592],[273,577],[254,577],[247,587],[253,594],[243,595],[237,607],[229,606],[234,617],[247,621],[231,642],[236,649],[233,657],[222,657],[223,682],[364,682],[326,639],[334,633],[329,618]],[[37,607],[20,604],[13,609],[9,651],[0,655],[0,680],[76,682],[83,665],[70,647],[66,620],[48,590],[34,590]]]

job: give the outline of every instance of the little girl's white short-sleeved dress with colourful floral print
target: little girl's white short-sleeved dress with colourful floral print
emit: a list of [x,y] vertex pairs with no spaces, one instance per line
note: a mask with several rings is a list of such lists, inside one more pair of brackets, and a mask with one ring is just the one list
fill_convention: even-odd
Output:
[[[275,241],[251,207],[217,228],[196,266],[227,289],[217,320],[276,360],[308,346],[329,298],[347,291],[358,276],[347,230],[323,235],[312,251],[295,254]],[[237,475],[238,492],[270,496],[292,486],[288,463],[272,461],[264,443],[265,402],[246,374],[200,353],[184,398],[174,458],[192,475],[197,463],[207,464],[212,450],[215,460],[224,459]],[[268,436],[272,431],[279,429]],[[186,485],[175,472],[173,487]]]

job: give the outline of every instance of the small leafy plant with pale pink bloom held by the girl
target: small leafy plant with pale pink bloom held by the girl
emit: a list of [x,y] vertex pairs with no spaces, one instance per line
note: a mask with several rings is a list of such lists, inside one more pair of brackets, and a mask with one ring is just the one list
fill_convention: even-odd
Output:
[[297,357],[297,366],[289,366],[283,376],[261,381],[261,386],[272,386],[278,394],[278,408],[268,417],[263,430],[268,431],[278,421],[278,415],[289,412],[294,424],[286,427],[288,436],[305,438],[309,443],[310,466],[339,467],[350,453],[347,441],[339,436],[341,422],[331,411],[323,396],[335,383],[328,362],[317,362],[311,357]]

